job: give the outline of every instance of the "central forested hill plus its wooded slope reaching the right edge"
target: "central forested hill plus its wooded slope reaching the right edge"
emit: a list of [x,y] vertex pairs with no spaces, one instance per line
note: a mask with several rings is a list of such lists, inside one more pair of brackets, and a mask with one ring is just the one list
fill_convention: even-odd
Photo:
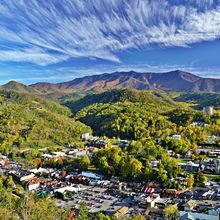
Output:
[[[175,142],[178,146],[172,147],[177,151],[187,151],[194,143],[202,143],[208,135],[219,132],[217,116],[211,119],[187,103],[175,102],[163,92],[112,90],[88,95],[66,105],[75,118],[91,126],[96,135],[130,140],[160,138],[166,146],[171,146],[170,136],[181,134],[181,143]],[[195,121],[209,126],[191,126]]]

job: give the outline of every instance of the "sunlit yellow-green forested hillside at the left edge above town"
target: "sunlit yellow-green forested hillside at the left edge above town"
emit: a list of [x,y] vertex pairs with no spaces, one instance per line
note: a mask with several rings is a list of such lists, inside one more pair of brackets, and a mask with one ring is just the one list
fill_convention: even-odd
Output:
[[70,118],[71,112],[40,97],[0,92],[0,145],[8,153],[14,147],[64,145],[79,139],[85,130]]

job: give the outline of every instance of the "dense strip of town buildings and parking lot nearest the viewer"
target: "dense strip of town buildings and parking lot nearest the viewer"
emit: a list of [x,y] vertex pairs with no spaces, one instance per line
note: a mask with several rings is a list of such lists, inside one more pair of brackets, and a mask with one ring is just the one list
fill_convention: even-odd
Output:
[[[7,162],[6,162],[7,161]],[[157,161],[152,161],[156,165]],[[155,183],[121,182],[110,180],[93,172],[64,172],[59,169],[22,169],[22,164],[2,157],[2,172],[11,175],[16,184],[36,194],[46,194],[57,200],[63,208],[71,206],[77,210],[85,202],[89,212],[104,211],[117,219],[142,214],[147,219],[163,219],[168,205],[178,207],[179,219],[219,219],[220,186],[212,183],[206,188],[190,191],[165,189]],[[215,184],[215,186],[213,185]]]

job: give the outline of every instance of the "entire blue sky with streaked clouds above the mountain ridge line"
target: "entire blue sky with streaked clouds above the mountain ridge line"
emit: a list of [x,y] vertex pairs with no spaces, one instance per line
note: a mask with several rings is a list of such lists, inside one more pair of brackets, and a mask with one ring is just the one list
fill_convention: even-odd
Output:
[[0,84],[174,69],[220,78],[220,0],[0,0]]

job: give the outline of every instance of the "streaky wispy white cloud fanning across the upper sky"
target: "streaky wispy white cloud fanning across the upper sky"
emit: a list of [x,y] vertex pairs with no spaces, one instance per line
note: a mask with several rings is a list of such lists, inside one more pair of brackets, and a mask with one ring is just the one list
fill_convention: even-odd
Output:
[[0,61],[38,65],[220,37],[219,0],[7,0],[0,17]]

